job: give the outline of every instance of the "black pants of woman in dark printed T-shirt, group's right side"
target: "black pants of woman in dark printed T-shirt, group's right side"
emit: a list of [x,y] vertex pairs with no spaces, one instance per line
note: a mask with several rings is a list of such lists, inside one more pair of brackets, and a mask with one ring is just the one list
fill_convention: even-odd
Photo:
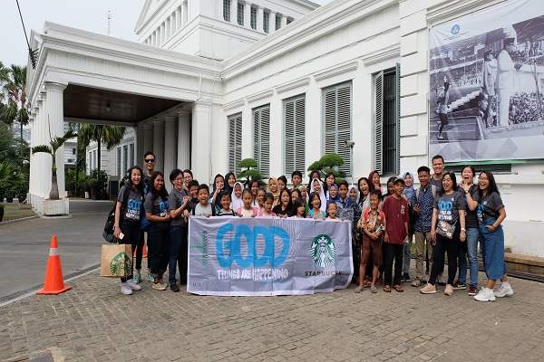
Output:
[[432,247],[432,268],[429,283],[434,285],[436,278],[444,270],[445,253],[448,252],[448,284],[453,284],[457,274],[457,257],[459,255],[459,231],[453,233],[452,239],[436,234],[436,244]]

